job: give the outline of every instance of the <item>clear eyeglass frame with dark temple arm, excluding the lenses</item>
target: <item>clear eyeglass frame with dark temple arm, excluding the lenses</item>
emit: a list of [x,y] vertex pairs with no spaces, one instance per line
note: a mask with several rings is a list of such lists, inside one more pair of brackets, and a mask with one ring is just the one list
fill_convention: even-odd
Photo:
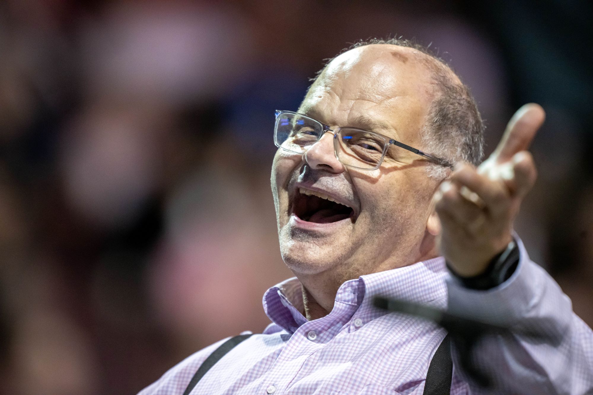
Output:
[[[295,150],[295,149],[288,149],[286,148],[286,146],[283,145],[284,141],[279,141],[279,125],[280,125],[280,120],[282,119],[281,116],[282,114],[288,114],[290,116],[299,116],[299,117],[303,117],[304,119],[309,120],[310,122],[313,122],[314,125],[318,125],[320,130],[317,136],[317,139],[315,141],[312,141],[310,145],[307,146],[302,146],[300,149]],[[356,165],[352,165],[349,163],[345,163],[345,161],[343,161],[340,158],[340,148],[342,143],[340,143],[340,139],[338,138],[338,136],[340,135],[340,133],[342,131],[345,130],[350,130],[350,131],[354,131],[354,132],[362,132],[362,133],[366,133],[366,135],[372,135],[374,136],[375,139],[377,139],[377,141],[382,141],[383,142],[383,149],[381,152],[381,158],[377,161],[377,164],[375,164],[374,166],[371,167],[360,167],[360,166],[356,166]],[[315,142],[319,141],[321,139],[321,137],[323,137],[325,135],[326,132],[331,132],[333,134],[333,140],[334,140],[334,154],[336,155],[337,160],[340,161],[340,163],[342,163],[343,165],[347,166],[347,167],[352,167],[352,168],[356,168],[359,170],[367,170],[367,171],[371,171],[371,170],[377,170],[381,164],[383,163],[383,160],[385,158],[385,154],[387,154],[387,149],[389,148],[390,145],[396,145],[400,148],[403,149],[407,149],[407,151],[413,152],[414,154],[420,155],[426,159],[428,159],[429,161],[436,163],[438,165],[442,165],[445,167],[452,167],[452,164],[449,163],[449,161],[444,160],[442,158],[439,157],[435,157],[433,155],[429,155],[426,154],[423,151],[420,151],[420,149],[417,148],[413,148],[412,146],[409,146],[407,144],[403,144],[402,142],[399,142],[397,140],[394,140],[392,138],[389,138],[388,136],[384,136],[381,133],[377,133],[377,132],[370,132],[369,130],[364,130],[364,129],[359,129],[359,128],[352,128],[350,126],[344,126],[344,127],[340,127],[340,128],[336,128],[336,129],[331,129],[331,127],[329,125],[326,125],[323,122],[320,122],[316,119],[313,119],[309,116],[306,116],[305,114],[301,114],[301,113],[297,113],[297,112],[292,112],[292,111],[285,111],[285,110],[276,110],[276,122],[274,125],[274,144],[280,148],[283,149],[284,151],[287,152],[292,152],[294,154],[304,154],[305,152],[307,152],[308,148],[313,145]],[[285,139],[286,141],[286,139]],[[364,160],[361,160],[362,162],[364,162]],[[369,164],[371,165],[371,164]]]

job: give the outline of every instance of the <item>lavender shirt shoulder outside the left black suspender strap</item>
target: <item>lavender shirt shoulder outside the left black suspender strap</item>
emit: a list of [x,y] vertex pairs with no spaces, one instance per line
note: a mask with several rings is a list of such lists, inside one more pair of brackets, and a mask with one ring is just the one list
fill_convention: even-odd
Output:
[[140,391],[138,395],[182,395],[200,365],[228,339],[230,337],[188,356],[165,372],[157,381]]

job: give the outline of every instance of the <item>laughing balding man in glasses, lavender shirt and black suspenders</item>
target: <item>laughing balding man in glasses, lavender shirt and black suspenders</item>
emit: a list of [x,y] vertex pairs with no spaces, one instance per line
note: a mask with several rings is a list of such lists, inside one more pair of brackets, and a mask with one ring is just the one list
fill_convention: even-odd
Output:
[[[422,394],[445,331],[372,307],[376,295],[557,339],[480,344],[478,360],[499,372],[502,393],[592,393],[593,333],[512,232],[535,181],[525,149],[543,119],[540,106],[522,107],[475,168],[482,120],[444,63],[398,40],[361,43],[331,60],[298,112],[276,119],[272,192],[282,258],[297,278],[266,292],[273,323],[213,364],[191,393]],[[184,393],[223,343],[141,394]],[[450,392],[480,391],[454,358]]]

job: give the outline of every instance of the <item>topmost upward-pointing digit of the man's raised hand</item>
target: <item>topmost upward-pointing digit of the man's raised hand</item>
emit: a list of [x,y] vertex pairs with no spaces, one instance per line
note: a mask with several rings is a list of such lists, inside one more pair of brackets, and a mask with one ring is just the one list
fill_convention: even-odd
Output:
[[513,155],[529,148],[535,132],[541,127],[546,118],[544,109],[539,104],[524,104],[512,116],[500,143],[492,153],[497,163],[510,161]]

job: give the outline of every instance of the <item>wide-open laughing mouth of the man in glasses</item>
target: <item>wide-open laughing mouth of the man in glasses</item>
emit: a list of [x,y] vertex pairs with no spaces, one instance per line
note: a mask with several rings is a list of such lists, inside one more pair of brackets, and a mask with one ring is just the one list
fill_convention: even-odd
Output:
[[303,221],[329,224],[346,218],[353,219],[354,210],[350,206],[336,202],[331,196],[299,188],[292,204],[292,214]]

